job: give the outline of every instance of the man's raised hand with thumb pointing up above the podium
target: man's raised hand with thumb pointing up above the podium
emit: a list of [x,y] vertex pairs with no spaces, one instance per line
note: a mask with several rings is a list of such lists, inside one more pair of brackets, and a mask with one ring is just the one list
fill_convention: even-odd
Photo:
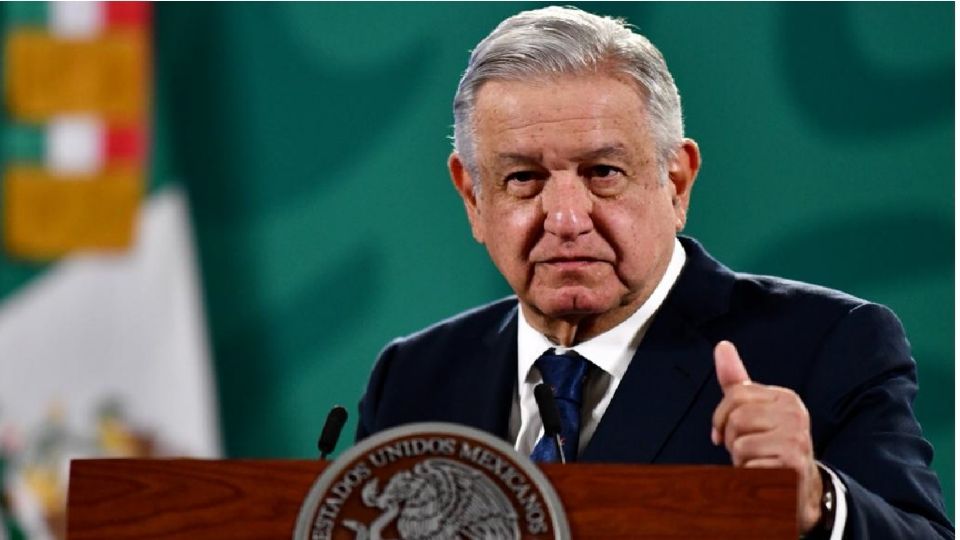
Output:
[[809,532],[820,519],[823,484],[807,408],[792,390],[751,382],[733,343],[718,343],[713,357],[723,400],[713,413],[710,439],[726,446],[737,467],[797,471],[797,519],[800,532]]

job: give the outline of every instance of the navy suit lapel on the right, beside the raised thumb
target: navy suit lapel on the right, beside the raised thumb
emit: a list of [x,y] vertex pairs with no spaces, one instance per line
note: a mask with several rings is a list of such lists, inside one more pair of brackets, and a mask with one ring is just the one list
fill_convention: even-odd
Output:
[[728,309],[734,278],[696,242],[681,238],[681,243],[687,263],[581,461],[653,462],[713,374],[714,344],[700,327]]

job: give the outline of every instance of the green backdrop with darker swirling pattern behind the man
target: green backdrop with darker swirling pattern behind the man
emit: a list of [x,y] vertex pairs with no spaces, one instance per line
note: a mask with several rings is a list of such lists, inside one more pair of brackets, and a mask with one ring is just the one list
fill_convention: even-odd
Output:
[[[229,456],[314,456],[387,341],[509,292],[447,179],[450,102],[540,5],[155,5],[154,183],[192,204]],[[952,511],[953,4],[583,7],[676,78],[704,155],[687,233],[901,317]],[[0,261],[0,294],[36,272]]]

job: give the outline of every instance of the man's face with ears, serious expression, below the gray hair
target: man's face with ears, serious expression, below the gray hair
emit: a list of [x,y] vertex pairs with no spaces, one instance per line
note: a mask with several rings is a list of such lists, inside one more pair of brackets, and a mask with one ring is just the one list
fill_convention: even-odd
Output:
[[561,343],[639,307],[683,227],[699,154],[685,141],[661,178],[647,118],[637,88],[607,75],[488,82],[473,117],[480,178],[451,157],[474,237]]

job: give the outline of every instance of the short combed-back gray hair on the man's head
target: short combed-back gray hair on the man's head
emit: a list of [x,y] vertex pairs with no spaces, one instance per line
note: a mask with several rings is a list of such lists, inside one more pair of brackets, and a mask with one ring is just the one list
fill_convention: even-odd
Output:
[[625,75],[637,83],[663,173],[683,138],[680,94],[663,55],[621,19],[551,6],[504,20],[470,54],[453,99],[453,147],[477,179],[474,188],[480,182],[472,119],[484,83],[597,72]]

